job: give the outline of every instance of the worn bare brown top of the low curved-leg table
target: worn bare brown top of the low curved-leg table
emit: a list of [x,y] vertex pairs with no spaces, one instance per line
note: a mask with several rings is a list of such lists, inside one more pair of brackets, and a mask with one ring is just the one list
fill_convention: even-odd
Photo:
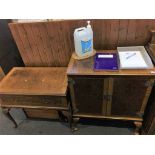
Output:
[[66,67],[14,67],[0,82],[0,94],[65,96]]

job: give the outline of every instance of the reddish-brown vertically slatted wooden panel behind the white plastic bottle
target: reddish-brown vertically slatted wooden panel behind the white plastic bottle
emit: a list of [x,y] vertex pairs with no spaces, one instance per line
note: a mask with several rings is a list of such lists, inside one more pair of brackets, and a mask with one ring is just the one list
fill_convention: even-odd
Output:
[[[26,66],[67,66],[73,32],[87,20],[12,23],[10,29]],[[95,49],[145,45],[155,20],[91,20]]]

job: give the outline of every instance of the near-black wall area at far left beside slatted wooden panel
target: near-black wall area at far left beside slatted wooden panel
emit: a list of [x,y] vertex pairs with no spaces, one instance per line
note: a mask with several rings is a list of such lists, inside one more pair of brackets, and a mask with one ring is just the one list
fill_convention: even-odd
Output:
[[24,66],[8,27],[8,22],[10,22],[10,20],[0,20],[0,66],[5,74],[8,73],[12,67]]

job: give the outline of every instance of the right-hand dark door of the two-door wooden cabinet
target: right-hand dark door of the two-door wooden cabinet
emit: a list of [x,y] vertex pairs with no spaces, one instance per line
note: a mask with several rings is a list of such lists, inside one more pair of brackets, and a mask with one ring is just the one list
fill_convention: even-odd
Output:
[[151,82],[141,77],[114,78],[111,115],[141,117],[152,89]]

